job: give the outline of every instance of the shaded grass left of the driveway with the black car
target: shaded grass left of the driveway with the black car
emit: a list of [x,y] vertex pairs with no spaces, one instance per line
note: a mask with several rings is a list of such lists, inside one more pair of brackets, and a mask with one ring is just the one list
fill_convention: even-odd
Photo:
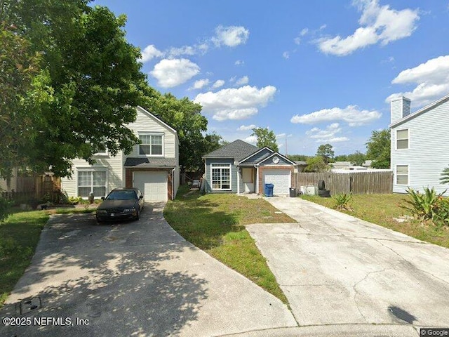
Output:
[[13,211],[0,223],[0,308],[22,277],[36,250],[43,226],[51,213],[88,213],[93,209]]

